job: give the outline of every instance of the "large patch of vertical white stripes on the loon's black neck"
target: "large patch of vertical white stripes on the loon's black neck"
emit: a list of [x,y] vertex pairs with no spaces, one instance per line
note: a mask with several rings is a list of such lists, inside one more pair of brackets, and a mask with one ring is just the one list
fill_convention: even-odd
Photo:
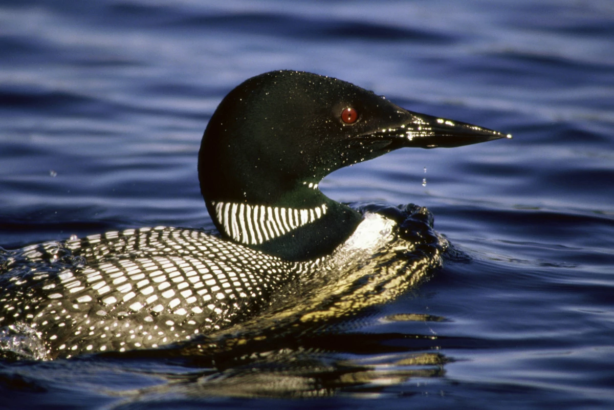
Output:
[[313,223],[327,211],[326,204],[307,209],[229,202],[212,202],[212,205],[224,233],[247,245],[262,244]]

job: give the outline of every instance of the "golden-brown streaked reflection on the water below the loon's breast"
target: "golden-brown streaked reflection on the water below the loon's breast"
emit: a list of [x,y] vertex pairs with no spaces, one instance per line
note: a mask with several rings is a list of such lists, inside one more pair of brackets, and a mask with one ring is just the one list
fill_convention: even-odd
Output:
[[[386,335],[383,335],[386,336]],[[437,353],[381,354],[376,358],[338,360],[331,353],[283,350],[223,371],[173,376],[167,384],[130,392],[130,400],[167,394],[185,396],[300,398],[344,395],[376,396],[412,377],[441,377],[446,358]],[[385,394],[385,393],[384,393]]]

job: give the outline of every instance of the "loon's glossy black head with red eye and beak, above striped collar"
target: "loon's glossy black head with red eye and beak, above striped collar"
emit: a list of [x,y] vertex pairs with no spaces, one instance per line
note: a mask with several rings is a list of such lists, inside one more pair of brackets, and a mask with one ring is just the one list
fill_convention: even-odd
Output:
[[458,147],[502,137],[405,110],[341,80],[267,72],[230,91],[211,117],[199,155],[201,192],[214,220],[220,201],[307,208],[330,201],[313,187],[349,164],[402,147]]

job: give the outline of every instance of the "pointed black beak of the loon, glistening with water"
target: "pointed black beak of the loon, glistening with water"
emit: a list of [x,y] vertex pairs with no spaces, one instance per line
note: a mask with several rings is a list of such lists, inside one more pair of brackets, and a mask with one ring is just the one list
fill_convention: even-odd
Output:
[[503,134],[481,126],[403,111],[405,111],[403,113],[405,118],[403,118],[402,125],[376,133],[380,137],[390,138],[395,148],[452,148],[494,139],[511,138],[511,134]]

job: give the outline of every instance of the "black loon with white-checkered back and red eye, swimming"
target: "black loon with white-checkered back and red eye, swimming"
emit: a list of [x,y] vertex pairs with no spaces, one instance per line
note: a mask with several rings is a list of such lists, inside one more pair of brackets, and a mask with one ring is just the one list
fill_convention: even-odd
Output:
[[0,336],[29,335],[41,342],[38,357],[53,359],[229,327],[290,297],[287,284],[330,269],[330,255],[365,224],[390,224],[327,198],[318,189],[327,174],[402,147],[502,137],[342,80],[257,75],[223,98],[198,154],[219,233],[160,226],[0,248]]

